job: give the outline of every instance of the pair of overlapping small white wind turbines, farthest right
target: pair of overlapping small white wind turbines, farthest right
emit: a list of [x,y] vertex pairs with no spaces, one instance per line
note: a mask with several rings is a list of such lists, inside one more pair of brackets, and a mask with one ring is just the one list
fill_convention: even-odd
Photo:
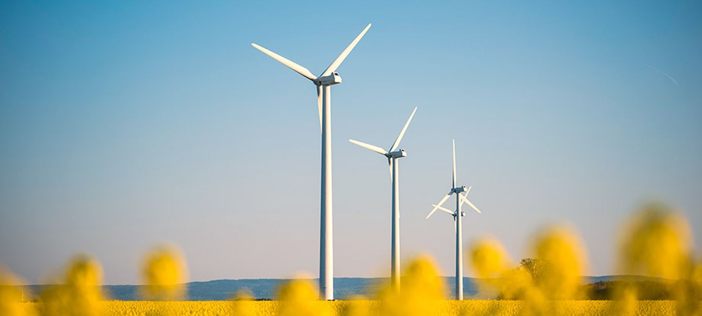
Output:
[[[460,187],[456,186],[456,140],[453,140],[453,176],[451,178],[451,190],[449,193],[446,193],[446,196],[439,201],[438,204],[432,204],[434,206],[434,209],[429,212],[429,215],[427,216],[427,219],[429,219],[432,214],[437,211],[441,210],[444,211],[445,213],[448,213],[449,215],[453,216],[453,228],[456,230],[456,299],[457,300],[463,300],[463,231],[462,231],[462,225],[461,225],[461,218],[465,216],[465,213],[461,211],[461,206],[463,206],[463,203],[468,204],[471,209],[474,209],[478,213],[480,213],[480,210],[475,207],[474,204],[472,204],[470,201],[468,201],[468,192],[470,192],[470,188],[468,189],[465,188],[465,185],[461,185]],[[465,192],[465,195],[461,195],[461,192]],[[449,211],[449,209],[446,209],[442,207],[442,204],[446,202],[451,195],[455,194],[456,195],[456,211]]]

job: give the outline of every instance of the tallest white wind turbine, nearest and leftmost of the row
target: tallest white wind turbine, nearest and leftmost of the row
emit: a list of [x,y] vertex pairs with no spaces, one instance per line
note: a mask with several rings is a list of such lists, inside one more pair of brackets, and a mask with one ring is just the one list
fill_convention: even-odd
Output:
[[333,230],[331,221],[331,86],[341,83],[341,77],[338,72],[336,72],[336,68],[338,68],[346,56],[351,53],[356,44],[358,44],[366,32],[368,32],[369,28],[371,28],[370,23],[363,29],[363,32],[358,34],[351,44],[346,46],[341,54],[331,62],[331,65],[326,67],[326,70],[324,70],[319,77],[314,76],[307,68],[277,53],[273,53],[262,46],[251,43],[251,46],[269,55],[274,60],[278,60],[303,77],[310,79],[312,83],[317,86],[317,109],[319,110],[319,126],[322,129],[322,216],[319,229],[319,288],[326,300],[334,299]]

